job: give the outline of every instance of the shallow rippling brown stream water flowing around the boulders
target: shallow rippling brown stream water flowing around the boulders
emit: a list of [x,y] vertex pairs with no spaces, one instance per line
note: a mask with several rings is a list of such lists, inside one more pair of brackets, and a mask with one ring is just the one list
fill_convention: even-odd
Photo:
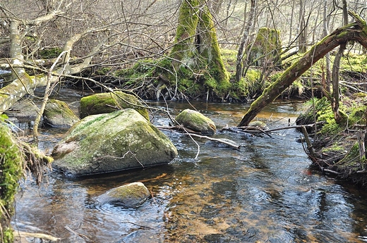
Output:
[[[219,128],[237,125],[248,108],[193,105]],[[189,107],[169,104],[172,113]],[[282,127],[288,119],[294,123],[300,108],[272,104],[258,117],[271,128]],[[169,123],[158,114],[152,121]],[[42,130],[41,149],[52,149],[62,133]],[[52,172],[40,188],[25,181],[16,199],[14,228],[73,243],[367,242],[367,193],[312,170],[296,142],[296,130],[273,132],[272,137],[215,135],[241,144],[239,150],[197,139],[196,161],[198,147],[189,137],[165,133],[179,151],[167,166],[76,179]],[[138,181],[153,195],[143,206],[126,209],[97,203],[96,197],[107,189]]]

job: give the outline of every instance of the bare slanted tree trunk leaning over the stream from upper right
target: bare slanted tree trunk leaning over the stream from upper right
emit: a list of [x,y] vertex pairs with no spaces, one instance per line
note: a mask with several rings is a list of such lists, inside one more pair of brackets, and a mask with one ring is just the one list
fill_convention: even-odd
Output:
[[303,55],[299,61],[296,61],[292,66],[282,73],[282,75],[273,82],[270,87],[267,87],[263,94],[256,99],[250,108],[243,116],[239,127],[246,126],[248,123],[255,118],[255,116],[270,102],[274,101],[277,96],[282,94],[284,89],[287,89],[294,80],[300,77],[313,63],[318,61],[320,58],[325,56],[329,51],[332,51],[335,47],[345,44],[349,41],[359,42],[362,46],[367,48],[367,25],[366,21],[363,20],[359,15],[354,12],[349,12],[356,23],[345,25],[340,27],[330,35],[327,35],[320,42],[315,44],[306,54]]

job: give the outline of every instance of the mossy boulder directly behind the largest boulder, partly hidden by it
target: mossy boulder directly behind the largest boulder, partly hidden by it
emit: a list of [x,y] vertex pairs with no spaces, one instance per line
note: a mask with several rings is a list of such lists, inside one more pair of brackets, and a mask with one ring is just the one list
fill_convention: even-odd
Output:
[[133,108],[145,119],[149,120],[148,110],[141,108],[138,98],[132,94],[126,94],[121,91],[110,93],[92,94],[80,99],[80,118],[86,116],[111,113],[118,109]]

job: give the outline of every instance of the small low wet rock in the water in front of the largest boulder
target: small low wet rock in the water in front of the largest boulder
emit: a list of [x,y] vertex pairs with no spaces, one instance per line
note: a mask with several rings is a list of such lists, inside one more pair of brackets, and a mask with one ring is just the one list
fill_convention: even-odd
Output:
[[138,207],[150,198],[150,192],[142,182],[133,182],[115,187],[100,195],[97,200],[101,204],[117,204],[125,208]]

